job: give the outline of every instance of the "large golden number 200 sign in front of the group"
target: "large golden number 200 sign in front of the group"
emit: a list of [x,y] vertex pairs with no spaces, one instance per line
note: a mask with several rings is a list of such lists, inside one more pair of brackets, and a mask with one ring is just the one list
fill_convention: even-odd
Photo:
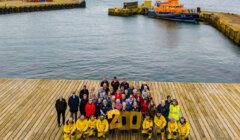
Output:
[[108,112],[110,129],[118,128],[120,130],[140,129],[142,121],[141,112],[120,112],[116,109]]

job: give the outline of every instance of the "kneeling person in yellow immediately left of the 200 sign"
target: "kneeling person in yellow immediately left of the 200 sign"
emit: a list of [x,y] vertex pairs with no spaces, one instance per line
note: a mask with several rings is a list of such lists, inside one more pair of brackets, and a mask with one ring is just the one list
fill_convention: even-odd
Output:
[[97,131],[98,131],[98,137],[103,137],[105,138],[106,133],[108,132],[108,121],[104,119],[104,116],[101,115],[100,119],[97,120],[96,123]]

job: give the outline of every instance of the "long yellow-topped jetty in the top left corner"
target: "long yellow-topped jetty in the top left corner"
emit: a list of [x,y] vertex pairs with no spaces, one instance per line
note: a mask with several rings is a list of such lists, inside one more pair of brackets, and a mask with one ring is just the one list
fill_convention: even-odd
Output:
[[85,0],[46,0],[46,1],[0,0],[0,15],[21,12],[47,11],[85,7],[86,7]]

